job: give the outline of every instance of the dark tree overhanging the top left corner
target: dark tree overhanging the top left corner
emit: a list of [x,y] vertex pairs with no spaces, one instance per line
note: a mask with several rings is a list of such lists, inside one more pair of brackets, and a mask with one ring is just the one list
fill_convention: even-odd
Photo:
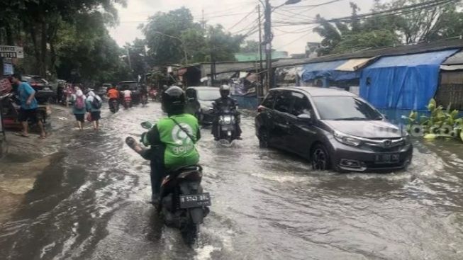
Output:
[[[55,70],[55,45],[61,23],[74,23],[75,16],[96,10],[106,11],[106,18],[111,17],[115,20],[117,11],[113,4],[125,4],[125,0],[2,1],[0,25],[7,24],[4,34],[9,44],[14,44],[15,38],[30,43],[26,43],[26,46],[30,46],[32,50],[26,48],[26,53],[35,57],[35,72],[45,76],[48,70],[51,73]],[[10,26],[11,24],[13,26]],[[13,30],[15,27],[21,30]],[[23,34],[26,36],[25,39],[21,39]]]

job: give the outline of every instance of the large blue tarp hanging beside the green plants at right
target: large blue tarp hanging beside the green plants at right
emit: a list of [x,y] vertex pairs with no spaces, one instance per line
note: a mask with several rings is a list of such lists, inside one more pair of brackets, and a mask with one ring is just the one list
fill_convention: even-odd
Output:
[[362,70],[360,96],[376,108],[425,110],[437,90],[440,64],[457,51],[381,57]]

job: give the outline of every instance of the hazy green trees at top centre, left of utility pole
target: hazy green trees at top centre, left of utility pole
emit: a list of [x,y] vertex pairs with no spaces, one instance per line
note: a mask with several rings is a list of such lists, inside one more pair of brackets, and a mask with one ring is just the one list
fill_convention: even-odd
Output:
[[216,61],[233,61],[243,39],[226,33],[221,25],[202,28],[184,7],[156,13],[141,28],[153,65],[209,62],[211,55]]

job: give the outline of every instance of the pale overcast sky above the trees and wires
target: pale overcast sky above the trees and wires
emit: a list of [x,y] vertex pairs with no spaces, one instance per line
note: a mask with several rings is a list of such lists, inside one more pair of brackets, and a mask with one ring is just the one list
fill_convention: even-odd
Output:
[[[279,6],[285,1],[270,0],[270,3],[272,6]],[[274,11],[272,21],[275,25],[277,21],[301,21],[311,19],[318,13],[325,18],[349,16],[350,1],[357,3],[361,9],[360,13],[366,13],[370,11],[373,3],[373,0],[340,0],[316,8],[308,6],[328,1],[330,0],[302,0],[299,4],[283,6]],[[110,33],[118,45],[123,46],[135,38],[144,38],[137,26],[145,23],[149,16],[157,11],[167,12],[182,6],[191,10],[195,21],[201,20],[204,11],[204,18],[208,24],[221,23],[231,33],[244,33],[247,32],[247,28],[257,23],[257,3],[258,0],[128,0],[126,8],[118,7],[120,24],[116,28],[110,28]],[[238,23],[242,18],[245,19]],[[275,26],[272,43],[274,49],[303,53],[306,42],[320,41],[320,37],[312,33],[311,28],[313,26]],[[250,35],[247,39],[258,40],[258,33]]]

